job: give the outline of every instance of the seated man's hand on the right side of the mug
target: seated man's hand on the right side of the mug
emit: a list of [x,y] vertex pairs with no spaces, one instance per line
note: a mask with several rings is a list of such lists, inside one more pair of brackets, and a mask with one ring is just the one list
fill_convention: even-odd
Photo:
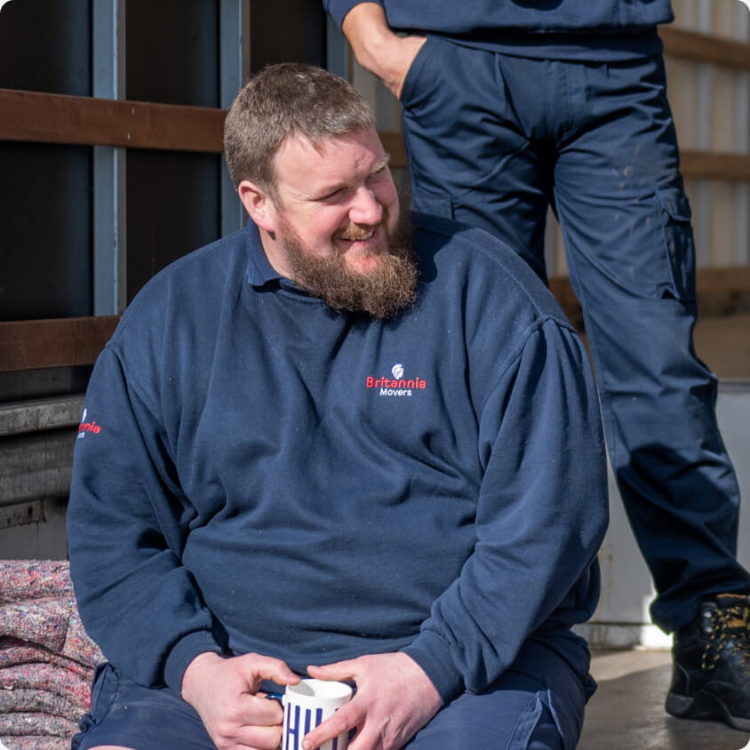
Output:
[[305,750],[357,728],[349,750],[398,750],[437,713],[440,696],[427,674],[403,653],[363,656],[328,666],[308,666],[319,680],[354,680],[356,694],[307,734]]

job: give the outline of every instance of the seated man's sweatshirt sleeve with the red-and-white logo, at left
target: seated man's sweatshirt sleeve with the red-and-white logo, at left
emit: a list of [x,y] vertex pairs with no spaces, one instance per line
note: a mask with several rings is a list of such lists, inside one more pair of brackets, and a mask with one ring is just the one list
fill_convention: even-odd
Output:
[[180,564],[195,511],[180,491],[154,403],[105,347],[74,451],[68,554],[84,626],[136,682],[167,684],[222,650],[211,612]]

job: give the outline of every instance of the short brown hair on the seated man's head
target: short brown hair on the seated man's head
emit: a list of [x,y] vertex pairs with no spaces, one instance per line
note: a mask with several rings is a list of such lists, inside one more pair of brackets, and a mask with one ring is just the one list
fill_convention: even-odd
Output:
[[289,138],[321,140],[373,127],[372,110],[352,84],[323,68],[284,62],[253,76],[224,124],[232,181],[252,180],[275,194],[274,157]]

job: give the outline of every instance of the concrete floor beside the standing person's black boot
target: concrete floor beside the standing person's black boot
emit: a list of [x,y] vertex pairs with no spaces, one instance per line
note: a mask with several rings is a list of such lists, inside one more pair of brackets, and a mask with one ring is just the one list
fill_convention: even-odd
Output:
[[594,651],[599,690],[586,706],[578,750],[750,750],[750,734],[667,714],[671,671],[668,650]]

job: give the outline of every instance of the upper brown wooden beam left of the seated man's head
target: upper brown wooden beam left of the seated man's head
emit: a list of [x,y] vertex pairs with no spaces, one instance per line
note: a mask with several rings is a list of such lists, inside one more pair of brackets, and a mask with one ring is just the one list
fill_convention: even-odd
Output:
[[0,89],[0,140],[219,154],[223,109]]

